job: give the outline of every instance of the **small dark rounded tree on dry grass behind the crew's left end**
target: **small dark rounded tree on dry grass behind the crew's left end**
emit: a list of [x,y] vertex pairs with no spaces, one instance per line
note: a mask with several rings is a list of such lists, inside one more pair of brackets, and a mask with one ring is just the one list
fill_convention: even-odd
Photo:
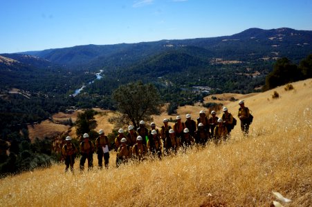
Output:
[[91,130],[95,129],[95,127],[97,126],[94,119],[95,113],[95,110],[88,109],[83,113],[78,114],[77,121],[75,122],[75,125],[77,127],[77,137],[82,137],[84,133],[89,133]]

